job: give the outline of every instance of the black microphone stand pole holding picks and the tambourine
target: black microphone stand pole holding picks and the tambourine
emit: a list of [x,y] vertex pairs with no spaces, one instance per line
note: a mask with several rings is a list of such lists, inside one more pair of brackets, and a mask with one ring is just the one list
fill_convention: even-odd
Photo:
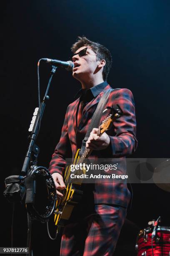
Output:
[[[35,141],[36,141],[37,134],[38,134],[38,131],[39,131],[39,121],[42,119],[42,115],[44,113],[46,100],[49,100],[49,96],[47,95],[47,93],[49,91],[50,83],[51,83],[53,75],[55,74],[56,69],[57,69],[57,67],[52,66],[50,79],[49,79],[49,82],[48,82],[48,85],[47,85],[47,90],[46,90],[45,96],[44,96],[44,98],[43,98],[43,100],[40,104],[40,109],[39,109],[38,114],[36,116],[35,123],[34,123],[33,129],[32,129],[32,133],[29,137],[30,138],[30,143],[29,143],[29,146],[28,146],[28,151],[26,153],[25,160],[24,160],[23,167],[22,167],[22,171],[21,171],[23,176],[26,175],[28,177],[30,164],[32,164],[32,165],[37,164],[37,156],[38,156],[40,150],[39,150],[38,146],[35,145]],[[39,120],[39,118],[40,118],[40,120]],[[31,161],[32,157],[34,157],[33,161]],[[28,213],[27,247],[29,248],[29,256],[33,256],[33,252],[32,252],[32,249],[31,249],[31,229],[32,229],[32,218]],[[28,254],[26,254],[26,255],[28,256]]]

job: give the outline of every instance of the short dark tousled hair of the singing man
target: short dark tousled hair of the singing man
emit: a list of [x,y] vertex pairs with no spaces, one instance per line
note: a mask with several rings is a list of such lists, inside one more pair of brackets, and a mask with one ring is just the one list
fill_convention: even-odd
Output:
[[103,80],[106,81],[110,68],[112,67],[112,55],[110,54],[110,51],[105,46],[90,41],[85,36],[78,36],[77,41],[71,47],[71,51],[75,53],[82,46],[90,46],[92,50],[98,55],[98,60],[104,59],[106,61],[102,72]]

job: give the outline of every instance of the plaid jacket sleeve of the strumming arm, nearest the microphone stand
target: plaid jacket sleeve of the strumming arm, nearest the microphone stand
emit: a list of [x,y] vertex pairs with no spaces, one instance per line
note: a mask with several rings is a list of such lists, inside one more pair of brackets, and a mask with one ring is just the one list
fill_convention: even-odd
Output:
[[70,141],[68,138],[68,124],[67,124],[67,112],[66,112],[64,124],[62,126],[60,141],[57,144],[54,154],[52,155],[52,159],[50,161],[49,171],[51,174],[55,172],[58,172],[61,175],[63,174],[65,170],[65,165],[66,165],[65,158],[67,157],[67,149],[70,146],[69,144],[70,144]]

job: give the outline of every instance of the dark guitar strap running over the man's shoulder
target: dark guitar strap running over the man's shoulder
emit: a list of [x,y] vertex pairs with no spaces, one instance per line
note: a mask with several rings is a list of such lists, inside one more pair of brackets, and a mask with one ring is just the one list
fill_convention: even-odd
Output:
[[80,157],[82,156],[82,153],[85,151],[86,141],[88,140],[92,129],[93,128],[98,128],[98,126],[100,124],[100,119],[102,117],[102,113],[103,113],[103,110],[105,108],[105,104],[106,104],[106,102],[108,100],[110,92],[112,92],[113,90],[114,89],[108,89],[108,90],[106,90],[103,93],[103,95],[102,95],[102,97],[101,97],[101,99],[100,99],[100,101],[99,101],[99,103],[97,105],[97,108],[96,108],[95,112],[92,115],[91,123],[90,123],[90,125],[89,125],[89,127],[87,129],[87,133],[85,135],[85,138],[82,141],[82,147],[81,147],[80,154],[79,154]]

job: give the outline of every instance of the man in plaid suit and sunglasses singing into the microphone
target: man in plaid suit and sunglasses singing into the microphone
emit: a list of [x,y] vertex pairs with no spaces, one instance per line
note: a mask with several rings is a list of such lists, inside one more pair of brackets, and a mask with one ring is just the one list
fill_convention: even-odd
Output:
[[[63,173],[67,149],[71,146],[74,157],[77,148],[81,148],[92,114],[103,93],[111,88],[106,81],[112,64],[108,49],[84,36],[79,37],[71,49],[75,65],[72,76],[80,81],[82,89],[77,100],[67,108],[62,135],[50,162],[49,170],[58,197],[62,197],[61,190],[65,188]],[[122,117],[115,120],[112,128],[100,137],[97,136],[98,129],[93,128],[86,142],[86,147],[93,150],[92,156],[96,158],[125,157],[137,147],[132,92],[128,89],[113,90],[106,106],[117,104],[123,111]],[[103,114],[101,121],[105,117],[106,114]],[[63,231],[60,255],[113,255],[125,220],[130,192],[125,183],[83,185],[84,198]]]

